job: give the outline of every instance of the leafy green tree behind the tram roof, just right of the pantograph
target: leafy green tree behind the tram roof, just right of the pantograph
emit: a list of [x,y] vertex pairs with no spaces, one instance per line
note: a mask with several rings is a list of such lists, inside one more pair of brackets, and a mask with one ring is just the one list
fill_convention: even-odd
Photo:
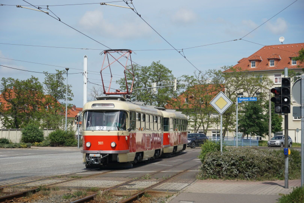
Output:
[[[134,85],[133,90],[138,88],[151,87],[152,83],[157,86],[173,85],[174,76],[172,71],[160,63],[160,61],[152,62],[149,66],[133,65]],[[132,75],[127,72],[128,88],[131,89]],[[122,78],[117,81],[120,89],[126,91],[126,82]],[[145,105],[155,105],[157,107],[165,107],[168,100],[173,97],[173,87],[158,88],[156,95],[151,93],[151,89],[135,90],[132,92],[131,100],[143,101]]]

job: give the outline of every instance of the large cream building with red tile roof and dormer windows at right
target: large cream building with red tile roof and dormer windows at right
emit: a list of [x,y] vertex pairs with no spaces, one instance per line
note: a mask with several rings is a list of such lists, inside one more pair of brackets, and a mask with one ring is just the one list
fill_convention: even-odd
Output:
[[[293,59],[293,57],[299,55],[298,52],[301,49],[304,49],[304,43],[264,46],[247,58],[239,60],[233,68],[237,71],[266,74],[274,83],[270,88],[281,87],[281,79],[284,77],[284,67],[288,67],[289,70],[293,70],[295,73],[303,74],[302,64],[299,64],[299,61]],[[229,69],[225,72],[229,73],[232,72],[232,70]],[[291,82],[292,81],[293,79],[291,79]],[[292,87],[292,85],[293,84],[290,86]],[[291,99],[291,103],[291,113],[288,115],[288,135],[292,138],[293,142],[299,142],[295,130],[296,128],[300,129],[300,117],[292,116],[292,107],[298,105],[293,99]],[[284,131],[284,121],[282,127]],[[268,140],[268,137],[265,138],[265,140]]]

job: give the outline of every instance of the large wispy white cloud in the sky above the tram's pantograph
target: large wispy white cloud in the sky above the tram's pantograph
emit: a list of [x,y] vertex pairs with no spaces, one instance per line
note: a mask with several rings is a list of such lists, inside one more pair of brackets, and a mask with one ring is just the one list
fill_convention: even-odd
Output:
[[138,21],[128,21],[128,18],[122,17],[121,22],[110,22],[110,18],[104,18],[99,10],[88,11],[80,19],[79,24],[87,31],[96,35],[102,35],[112,38],[135,39],[147,36],[151,29],[145,23]]

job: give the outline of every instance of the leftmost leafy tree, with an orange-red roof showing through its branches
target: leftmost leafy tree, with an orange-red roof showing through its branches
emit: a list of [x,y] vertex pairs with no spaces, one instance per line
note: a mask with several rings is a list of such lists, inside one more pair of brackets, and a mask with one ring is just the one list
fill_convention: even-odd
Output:
[[6,128],[23,128],[28,123],[39,124],[43,104],[43,86],[38,78],[27,80],[2,78],[0,92],[6,105],[1,105],[0,120]]

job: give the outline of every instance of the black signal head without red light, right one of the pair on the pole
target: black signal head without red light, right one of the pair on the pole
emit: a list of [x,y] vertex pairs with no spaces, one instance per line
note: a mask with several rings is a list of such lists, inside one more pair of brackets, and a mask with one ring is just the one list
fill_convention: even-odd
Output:
[[282,113],[290,113],[290,78],[282,78]]

